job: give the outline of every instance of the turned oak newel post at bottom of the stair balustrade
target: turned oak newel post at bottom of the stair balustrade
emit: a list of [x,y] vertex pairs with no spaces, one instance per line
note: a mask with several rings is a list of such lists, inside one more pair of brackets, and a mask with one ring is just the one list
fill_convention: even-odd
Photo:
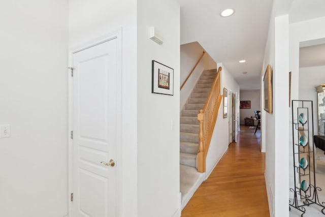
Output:
[[204,159],[204,132],[203,132],[203,119],[204,112],[203,109],[199,110],[198,120],[199,120],[199,153],[198,153],[198,171],[205,172],[205,159]]

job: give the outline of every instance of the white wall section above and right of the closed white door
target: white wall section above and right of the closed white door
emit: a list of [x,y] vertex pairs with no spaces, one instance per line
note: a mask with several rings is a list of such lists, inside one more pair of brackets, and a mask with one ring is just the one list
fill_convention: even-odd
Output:
[[[137,2],[70,0],[69,3],[71,50],[117,29],[122,31],[118,213],[119,216],[137,216]],[[151,77],[150,72],[148,76]]]

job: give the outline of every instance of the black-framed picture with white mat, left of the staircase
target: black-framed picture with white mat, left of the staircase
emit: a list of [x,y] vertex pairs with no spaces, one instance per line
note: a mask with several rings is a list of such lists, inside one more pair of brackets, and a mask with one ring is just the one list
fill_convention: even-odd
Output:
[[174,70],[152,60],[152,93],[174,95]]

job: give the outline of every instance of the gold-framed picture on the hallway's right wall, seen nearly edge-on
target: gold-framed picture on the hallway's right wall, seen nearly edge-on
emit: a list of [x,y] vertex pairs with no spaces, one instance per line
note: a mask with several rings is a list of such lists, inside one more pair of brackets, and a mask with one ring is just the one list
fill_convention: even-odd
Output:
[[272,68],[270,65],[267,66],[264,78],[263,78],[263,89],[264,89],[264,110],[272,114]]

